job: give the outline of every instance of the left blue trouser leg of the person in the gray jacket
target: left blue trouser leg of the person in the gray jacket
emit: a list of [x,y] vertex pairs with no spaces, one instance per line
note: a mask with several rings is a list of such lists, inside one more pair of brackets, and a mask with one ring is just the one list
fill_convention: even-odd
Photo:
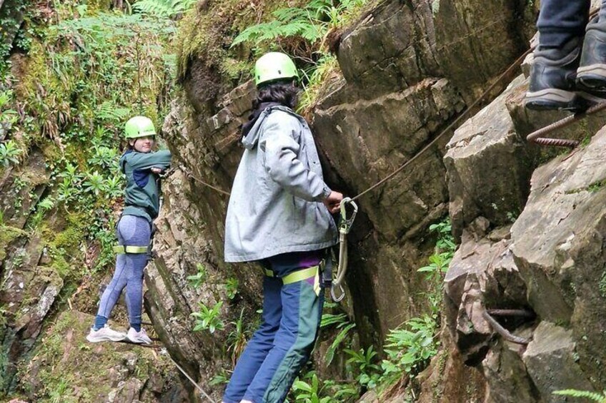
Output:
[[263,280],[263,317],[262,324],[254,332],[246,349],[239,357],[232,378],[229,379],[223,396],[224,403],[239,403],[249,384],[257,374],[267,353],[274,345],[274,337],[282,318],[280,290],[282,280],[277,277],[265,277]]

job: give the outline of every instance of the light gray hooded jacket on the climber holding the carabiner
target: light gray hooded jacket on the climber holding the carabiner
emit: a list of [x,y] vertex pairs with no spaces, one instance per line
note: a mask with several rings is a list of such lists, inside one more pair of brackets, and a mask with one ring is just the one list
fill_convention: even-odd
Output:
[[249,262],[328,248],[337,227],[322,200],[330,188],[304,118],[265,109],[242,140],[225,221],[225,261]]

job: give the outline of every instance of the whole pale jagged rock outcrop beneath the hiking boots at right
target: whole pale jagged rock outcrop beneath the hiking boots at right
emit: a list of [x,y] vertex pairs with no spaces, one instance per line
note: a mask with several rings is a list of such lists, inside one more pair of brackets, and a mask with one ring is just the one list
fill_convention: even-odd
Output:
[[[517,78],[467,121],[445,157],[462,233],[447,273],[447,323],[460,354],[482,369],[487,402],[565,402],[552,392],[599,391],[606,382],[606,129],[572,153],[525,144],[520,136],[565,116],[526,111],[527,85]],[[590,116],[553,136],[589,139],[602,124]],[[518,217],[506,213],[516,208]],[[527,343],[495,333],[482,315],[495,308],[534,312],[497,317]]]

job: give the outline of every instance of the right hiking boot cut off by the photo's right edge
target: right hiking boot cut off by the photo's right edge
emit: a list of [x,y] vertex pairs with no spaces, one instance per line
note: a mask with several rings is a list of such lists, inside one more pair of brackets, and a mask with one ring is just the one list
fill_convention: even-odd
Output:
[[606,32],[587,30],[577,69],[577,86],[592,95],[606,97]]

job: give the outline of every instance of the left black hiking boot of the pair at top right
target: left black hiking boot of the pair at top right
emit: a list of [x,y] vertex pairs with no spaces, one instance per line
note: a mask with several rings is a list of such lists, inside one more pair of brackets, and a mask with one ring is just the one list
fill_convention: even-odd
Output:
[[568,41],[563,49],[539,47],[530,70],[525,106],[537,111],[579,109],[581,102],[575,92],[575,78],[580,55],[580,38]]

